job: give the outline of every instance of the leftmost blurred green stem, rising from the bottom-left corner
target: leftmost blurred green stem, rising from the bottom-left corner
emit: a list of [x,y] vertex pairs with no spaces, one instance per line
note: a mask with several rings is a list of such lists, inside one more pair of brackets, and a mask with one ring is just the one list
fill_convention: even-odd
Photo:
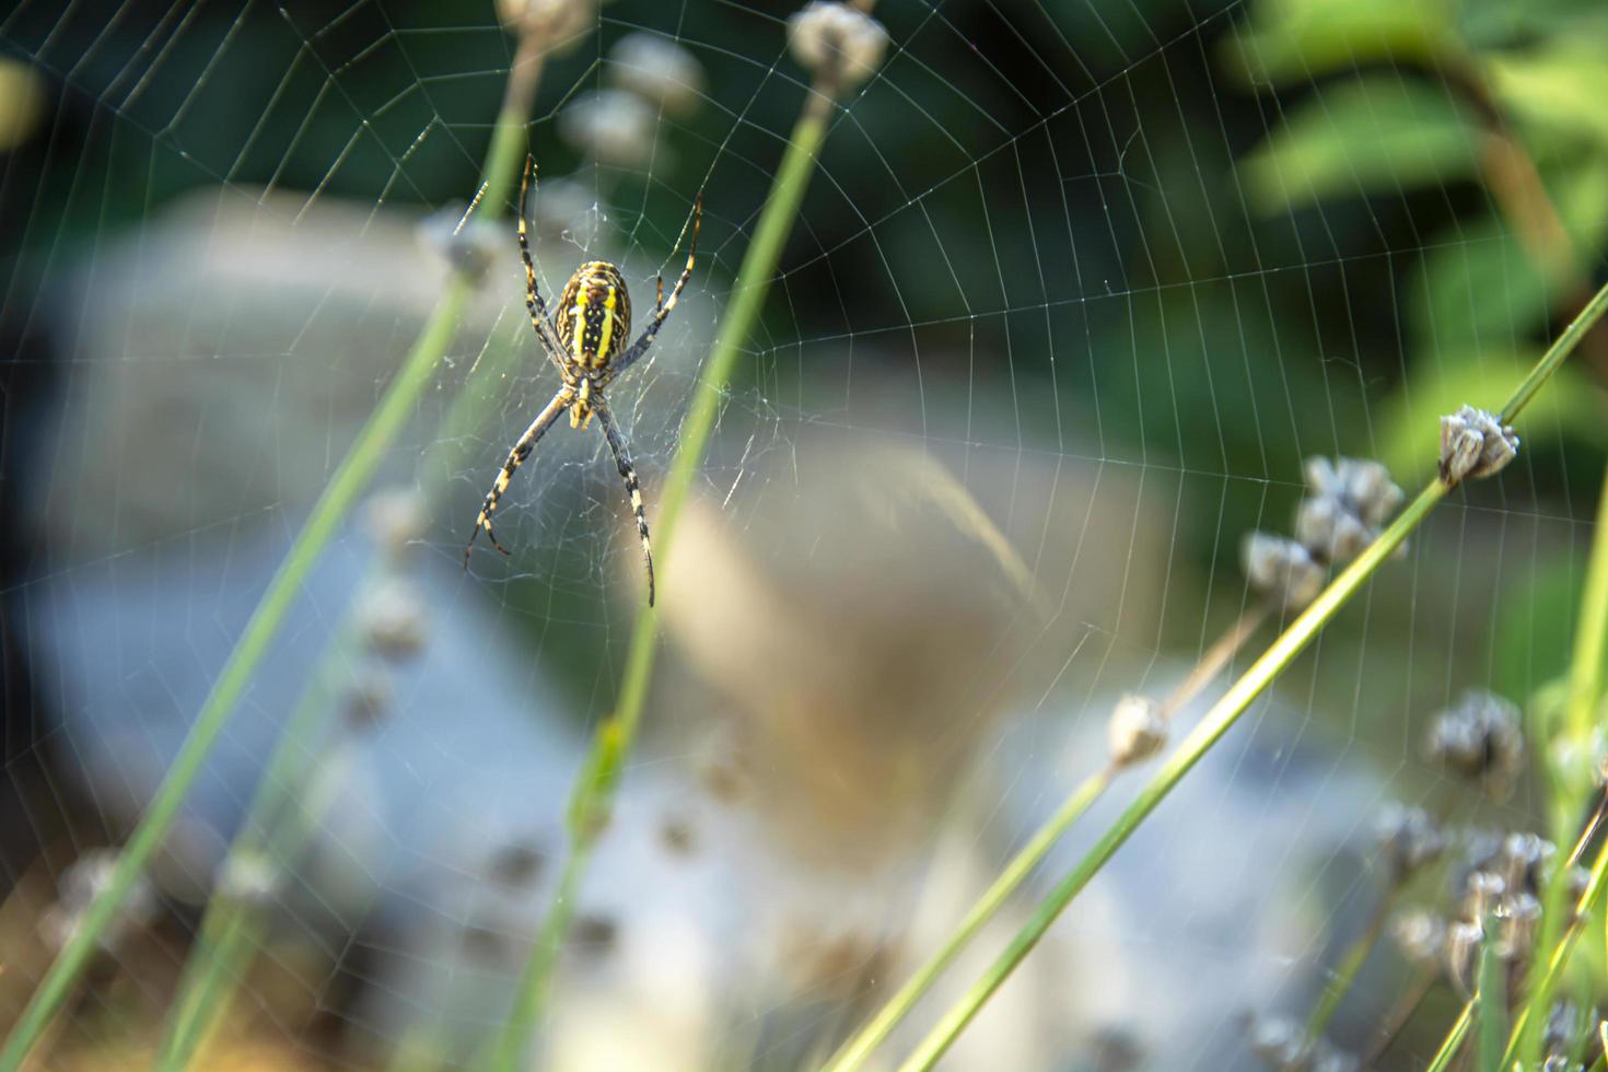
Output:
[[[524,79],[529,69],[521,69],[518,61],[510,76]],[[510,87],[513,96],[513,87]],[[515,167],[524,145],[524,116],[505,109],[498,116],[497,129],[492,133],[490,153],[486,164],[486,193],[482,206],[487,211],[500,207],[508,196]],[[151,804],[135,826],[129,841],[117,857],[106,889],[85,910],[72,937],[45,972],[43,980],[23,1009],[5,1048],[0,1049],[0,1072],[14,1072],[40,1040],[56,1011],[68,1000],[79,976],[90,964],[100,939],[106,927],[117,916],[129,890],[145,871],[151,855],[162,845],[169,828],[178,816],[178,808],[196,776],[212,752],[235,704],[251,683],[262,657],[273,646],[285,617],[289,614],[302,585],[312,572],[314,564],[323,554],[330,540],[341,529],[357,498],[368,481],[379,468],[381,460],[391,450],[397,434],[413,415],[420,397],[429,386],[431,374],[441,354],[452,342],[452,334],[458,326],[463,307],[473,293],[473,283],[463,276],[453,278],[447,284],[445,294],[436,304],[418,339],[402,360],[402,366],[379,405],[363,423],[357,439],[352,442],[341,464],[325,485],[307,516],[306,524],[291,543],[285,561],[269,582],[257,609],[246,622],[240,641],[230,653],[222,672],[214,681],[211,693],[196,715],[195,725],[185,736],[183,746],[174,757],[167,776],[158,786]]]

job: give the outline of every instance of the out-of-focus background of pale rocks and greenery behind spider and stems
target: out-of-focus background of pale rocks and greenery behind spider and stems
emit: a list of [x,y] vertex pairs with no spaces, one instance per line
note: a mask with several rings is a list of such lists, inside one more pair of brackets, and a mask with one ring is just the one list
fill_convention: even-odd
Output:
[[[640,323],[703,191],[698,270],[609,395],[650,522],[809,93],[794,10],[614,0],[544,61],[548,296],[614,260]],[[595,429],[540,444],[500,513],[515,554],[461,569],[556,387],[511,214],[453,233],[516,47],[502,14],[0,11],[0,1024],[455,265],[484,270],[40,1067],[154,1053],[288,726],[307,836],[252,886],[260,948],[206,1067],[457,1067],[505,1016],[643,593]],[[1291,530],[1306,460],[1417,489],[1438,416],[1497,407],[1603,276],[1590,0],[873,14],[886,58],[838,103],[664,564],[646,739],[544,1067],[830,1053],[1100,768],[1116,699],[1164,694],[1254,604],[1241,540]],[[1539,828],[1528,773],[1478,792],[1421,738],[1466,688],[1526,706],[1563,672],[1605,383],[1598,331],[1518,461],[1454,493],[1188,776],[952,1067],[1259,1067],[1253,1017],[1302,1017],[1386,887],[1381,808]],[[1373,1049],[1412,979],[1381,945],[1335,1045]],[[1421,1067],[1457,1004],[1431,987],[1378,1064]]]

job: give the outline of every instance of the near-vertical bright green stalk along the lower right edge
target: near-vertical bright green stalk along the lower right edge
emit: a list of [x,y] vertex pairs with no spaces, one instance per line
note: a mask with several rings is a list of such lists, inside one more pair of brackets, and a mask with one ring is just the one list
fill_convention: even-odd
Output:
[[[1581,595],[1581,614],[1574,628],[1574,656],[1569,662],[1569,693],[1565,710],[1563,762],[1579,767],[1589,762],[1590,743],[1595,734],[1597,704],[1603,694],[1603,661],[1608,659],[1608,469],[1603,469],[1603,489],[1597,500],[1597,527],[1592,535],[1592,556],[1585,569],[1585,590]],[[1581,797],[1590,792],[1592,771],[1560,770],[1553,778],[1558,796],[1553,836],[1563,841],[1571,834],[1569,824],[1577,821]],[[1542,900],[1540,937],[1536,943],[1536,963],[1544,963],[1557,948],[1565,927],[1565,895],[1568,868],[1555,868],[1547,881]],[[1547,1011],[1552,1008],[1553,979],[1540,976],[1529,988],[1524,1022],[1518,1037],[1518,1056],[1523,1067],[1540,1062]]]

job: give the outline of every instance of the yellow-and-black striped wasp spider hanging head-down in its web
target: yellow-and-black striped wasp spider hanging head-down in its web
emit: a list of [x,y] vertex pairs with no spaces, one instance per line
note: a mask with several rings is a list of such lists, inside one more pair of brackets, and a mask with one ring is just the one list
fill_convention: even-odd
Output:
[[486,492],[486,501],[481,503],[481,514],[474,519],[474,534],[470,537],[470,545],[463,548],[463,566],[468,569],[470,553],[474,550],[474,540],[481,535],[481,530],[486,532],[486,538],[492,542],[492,546],[503,554],[508,553],[508,548],[498,543],[497,535],[492,532],[492,511],[497,509],[503,492],[508,490],[508,481],[513,479],[515,469],[531,456],[537,440],[547,434],[547,429],[553,426],[563,411],[569,410],[569,428],[585,428],[597,416],[598,424],[603,426],[603,436],[608,439],[609,450],[614,452],[614,464],[619,466],[619,474],[626,481],[626,492],[630,493],[630,508],[637,513],[642,558],[648,566],[648,606],[653,606],[653,545],[648,542],[648,516],[642,509],[642,489],[637,484],[637,469],[632,468],[630,455],[626,453],[626,440],[619,434],[619,426],[614,424],[614,415],[608,408],[608,400],[603,399],[603,389],[648,352],[664,318],[675,309],[675,302],[682,296],[682,288],[691,278],[693,259],[698,254],[698,223],[703,220],[703,194],[698,194],[698,199],[693,203],[693,236],[687,248],[687,268],[682,270],[682,278],[675,281],[669,299],[664,297],[664,280],[659,280],[659,294],[653,305],[653,318],[642,336],[627,347],[626,339],[630,338],[630,294],[626,289],[626,280],[621,276],[619,268],[606,260],[589,260],[576,268],[576,273],[569,276],[569,283],[564,284],[564,293],[558,299],[555,315],[548,317],[547,304],[535,286],[535,264],[531,260],[531,239],[526,236],[524,225],[524,204],[531,188],[532,167],[534,162],[526,158],[524,180],[519,183],[519,254],[524,257],[524,304],[531,310],[531,326],[535,328],[535,338],[542,344],[542,349],[547,350],[553,365],[558,366],[558,376],[563,379],[563,384],[558,387],[553,400],[547,403],[547,408],[537,413],[531,426],[519,436],[519,442],[513,445],[513,450],[508,452],[508,460],[503,461],[502,473],[492,482],[492,490]]

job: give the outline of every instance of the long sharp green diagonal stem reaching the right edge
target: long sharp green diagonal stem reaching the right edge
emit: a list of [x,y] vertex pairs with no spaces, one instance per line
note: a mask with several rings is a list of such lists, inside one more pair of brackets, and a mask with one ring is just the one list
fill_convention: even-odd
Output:
[[[1608,286],[1603,286],[1592,301],[1585,304],[1573,323],[1547,349],[1536,368],[1502,407],[1503,423],[1512,421],[1536,395],[1581,336],[1590,329],[1603,312],[1608,310]],[[1434,506],[1446,498],[1450,489],[1436,477],[1418,497],[1407,505],[1407,509],[1396,518],[1380,537],[1357,556],[1330,585],[1290,624],[1272,646],[1251,664],[1249,670],[1235,681],[1222,699],[1219,699],[1200,725],[1183,739],[1179,749],[1167,757],[1156,775],[1140,789],[1138,796],[1126,812],[1106,829],[1095,845],[1084,855],[1073,871],[1061,879],[1037,911],[1028,919],[1023,929],[1010,942],[1005,951],[994,961],[984,976],[957,1001],[949,1013],[928,1033],[917,1051],[905,1061],[902,1069],[928,1069],[955,1041],[966,1024],[976,1017],[982,1004],[1005,982],[1016,966],[1028,956],[1039,939],[1050,929],[1050,924],[1073,902],[1074,897],[1093,879],[1105,863],[1122,844],[1132,837],[1138,824],[1150,816],[1156,805],[1166,799],[1172,788],[1200,762],[1201,755],[1211,749],[1224,733],[1240,718],[1262,691],[1274,683],[1298,654],[1322,632],[1325,625],[1339,612],[1346,603],[1362,588],[1362,585],[1384,564],[1391,553],[1402,545],[1409,534],[1417,529]]]

